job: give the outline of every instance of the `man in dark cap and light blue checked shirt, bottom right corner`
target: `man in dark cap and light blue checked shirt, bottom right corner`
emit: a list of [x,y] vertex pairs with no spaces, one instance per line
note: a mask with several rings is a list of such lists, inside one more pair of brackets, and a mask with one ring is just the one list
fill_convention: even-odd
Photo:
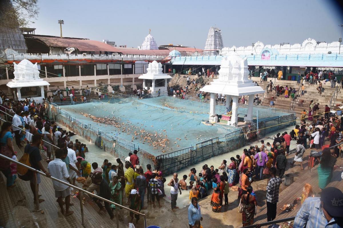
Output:
[[343,193],[328,187],[319,197],[307,198],[294,219],[294,228],[343,227]]

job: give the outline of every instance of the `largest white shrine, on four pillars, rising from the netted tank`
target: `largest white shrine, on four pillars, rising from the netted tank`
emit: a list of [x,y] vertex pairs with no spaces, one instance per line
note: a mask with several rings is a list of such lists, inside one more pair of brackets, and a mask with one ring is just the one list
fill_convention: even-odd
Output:
[[248,95],[248,111],[245,121],[252,121],[252,109],[254,94],[264,93],[260,86],[255,86],[252,80],[248,79],[249,70],[247,58],[240,57],[236,52],[229,53],[222,57],[219,78],[214,79],[210,85],[205,85],[200,91],[209,92],[210,98],[210,118],[209,122],[217,122],[218,117],[215,113],[216,94],[226,95],[226,108],[230,110],[232,99],[232,116],[227,122],[228,125],[237,125],[238,121],[238,98],[239,96]]

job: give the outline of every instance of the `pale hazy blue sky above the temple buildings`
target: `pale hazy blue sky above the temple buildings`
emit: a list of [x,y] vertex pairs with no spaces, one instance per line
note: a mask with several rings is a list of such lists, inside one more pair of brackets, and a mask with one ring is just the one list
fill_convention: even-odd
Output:
[[211,26],[222,30],[224,46],[338,41],[343,17],[330,0],[116,1],[39,0],[39,35],[108,39],[137,48],[149,33],[157,45],[203,49]]

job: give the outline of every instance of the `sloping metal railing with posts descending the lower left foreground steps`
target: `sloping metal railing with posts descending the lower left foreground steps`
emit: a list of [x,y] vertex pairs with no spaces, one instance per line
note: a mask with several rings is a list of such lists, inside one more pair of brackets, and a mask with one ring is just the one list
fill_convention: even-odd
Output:
[[84,222],[84,214],[83,214],[83,203],[82,203],[82,202],[83,202],[83,200],[82,200],[83,198],[82,198],[82,192],[86,193],[88,196],[92,196],[92,197],[95,197],[95,198],[97,198],[97,199],[99,199],[99,200],[102,200],[102,201],[104,201],[104,202],[107,202],[107,203],[116,205],[116,209],[115,209],[115,210],[116,210],[117,228],[119,228],[118,207],[121,207],[122,209],[128,210],[128,211],[130,211],[130,212],[132,212],[132,213],[134,213],[134,214],[142,215],[142,216],[144,217],[144,228],[146,228],[146,215],[145,215],[145,214],[142,214],[142,213],[140,213],[140,212],[134,211],[134,210],[132,210],[132,209],[130,209],[130,208],[128,208],[128,207],[122,206],[122,205],[120,205],[120,204],[118,204],[118,203],[112,202],[112,201],[107,200],[107,199],[105,199],[105,198],[99,197],[99,196],[97,196],[97,195],[95,195],[95,194],[93,194],[93,193],[91,193],[91,192],[88,192],[88,191],[86,191],[86,190],[84,190],[84,189],[82,189],[82,188],[79,188],[79,187],[77,187],[77,186],[74,186],[74,185],[72,185],[72,184],[70,184],[70,183],[67,183],[67,182],[64,182],[64,181],[62,181],[62,180],[59,180],[59,179],[57,179],[57,178],[55,178],[55,177],[52,177],[52,176],[48,177],[45,173],[43,173],[43,172],[41,172],[41,171],[38,171],[38,170],[36,170],[36,169],[33,169],[32,167],[27,166],[27,165],[25,165],[25,164],[23,164],[23,163],[21,163],[21,162],[19,162],[19,161],[16,161],[16,160],[13,160],[13,159],[11,159],[11,158],[8,158],[8,157],[6,157],[6,156],[4,156],[4,155],[2,155],[2,154],[0,154],[0,158],[2,158],[2,159],[7,159],[7,160],[9,160],[10,162],[16,163],[17,165],[21,165],[21,166],[25,167],[26,169],[33,171],[33,174],[34,174],[34,185],[35,185],[35,187],[36,187],[36,190],[35,190],[35,194],[36,194],[36,196],[35,196],[35,198],[36,198],[35,209],[36,209],[36,211],[40,211],[40,209],[39,209],[38,186],[37,186],[37,173],[38,173],[38,174],[43,175],[43,176],[45,176],[45,177],[47,177],[47,178],[50,178],[50,179],[52,179],[52,180],[55,180],[55,181],[57,181],[57,182],[59,182],[59,183],[62,183],[62,184],[67,185],[67,186],[69,186],[69,187],[72,187],[73,189],[79,190],[79,200],[80,200],[80,209],[81,209],[81,219],[82,219],[82,226],[83,226],[83,227],[85,227],[85,222]]

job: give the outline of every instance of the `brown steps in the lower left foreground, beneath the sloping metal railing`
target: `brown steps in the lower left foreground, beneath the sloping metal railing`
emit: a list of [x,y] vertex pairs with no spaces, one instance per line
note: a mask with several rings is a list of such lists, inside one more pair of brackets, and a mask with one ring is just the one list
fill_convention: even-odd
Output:
[[[16,145],[14,150],[18,152],[17,157],[21,158],[23,150]],[[46,158],[42,154],[42,158]],[[47,163],[43,160],[43,165],[47,167]],[[60,213],[60,208],[55,198],[55,191],[52,186],[51,179],[41,177],[39,184],[39,194],[42,195],[44,202],[40,203],[40,212],[33,212],[33,194],[30,188],[30,183],[19,178],[16,179],[16,185],[12,188],[6,188],[6,179],[0,175],[0,226],[9,228],[37,228],[37,227],[52,227],[52,228],[79,228],[81,225],[80,201],[77,198],[71,198],[74,203],[70,210],[74,213],[68,217]],[[97,205],[91,200],[87,200],[83,205],[84,219],[86,227],[90,228],[112,228],[116,226],[116,218],[110,219],[108,213],[98,212]],[[119,214],[119,227],[127,227],[128,212],[121,210]],[[122,215],[126,216],[122,216]],[[143,225],[143,219],[139,221],[139,225]]]

